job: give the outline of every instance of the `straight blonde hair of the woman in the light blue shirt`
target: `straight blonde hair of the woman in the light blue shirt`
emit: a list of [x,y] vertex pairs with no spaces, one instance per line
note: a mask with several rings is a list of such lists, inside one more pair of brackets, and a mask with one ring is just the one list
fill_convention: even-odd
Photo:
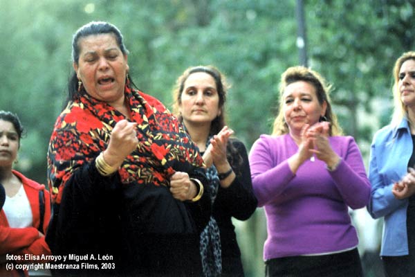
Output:
[[400,99],[400,91],[398,86],[400,67],[402,67],[402,64],[407,60],[415,60],[415,51],[405,52],[398,57],[392,73],[394,75],[394,86],[392,87],[392,93],[394,95],[394,113],[392,114],[391,125],[394,127],[398,126],[403,118],[407,118],[407,107]]

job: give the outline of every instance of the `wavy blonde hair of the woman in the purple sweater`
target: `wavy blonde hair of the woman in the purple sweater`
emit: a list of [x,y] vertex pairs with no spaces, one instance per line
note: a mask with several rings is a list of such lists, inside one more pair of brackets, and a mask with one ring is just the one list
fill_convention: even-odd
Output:
[[279,83],[279,113],[274,120],[273,135],[288,134],[288,125],[284,120],[284,91],[289,84],[293,82],[304,81],[315,87],[315,93],[320,105],[323,105],[324,101],[327,103],[326,113],[324,116],[330,123],[329,134],[330,136],[339,136],[342,134],[342,129],[338,125],[338,120],[333,111],[331,111],[330,103],[330,90],[331,85],[326,83],[326,80],[311,69],[305,66],[292,66],[286,69],[281,75],[281,82]]

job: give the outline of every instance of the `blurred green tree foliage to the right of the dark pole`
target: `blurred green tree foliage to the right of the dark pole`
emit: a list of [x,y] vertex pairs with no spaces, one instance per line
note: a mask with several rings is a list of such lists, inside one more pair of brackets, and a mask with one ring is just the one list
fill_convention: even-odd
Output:
[[394,62],[414,48],[413,4],[307,1],[306,10],[311,66],[334,84],[345,132],[369,143],[390,120]]

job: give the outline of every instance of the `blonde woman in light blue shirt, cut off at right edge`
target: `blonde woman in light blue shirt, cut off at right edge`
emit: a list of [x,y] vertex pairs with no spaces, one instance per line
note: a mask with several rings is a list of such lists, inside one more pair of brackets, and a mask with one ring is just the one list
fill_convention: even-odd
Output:
[[372,217],[384,217],[380,256],[387,276],[415,274],[415,51],[394,66],[394,115],[374,136],[369,179]]

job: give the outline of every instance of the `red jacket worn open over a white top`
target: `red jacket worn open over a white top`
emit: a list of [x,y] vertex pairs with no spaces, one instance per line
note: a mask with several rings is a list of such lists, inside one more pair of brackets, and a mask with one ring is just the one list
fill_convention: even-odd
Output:
[[[23,183],[24,190],[30,202],[30,208],[33,215],[33,226],[27,228],[10,228],[6,214],[0,211],[0,276],[17,276],[15,271],[6,271],[5,265],[1,264],[6,260],[6,254],[21,255],[30,253],[35,256],[51,255],[45,237],[39,238],[39,191],[44,190],[45,213],[42,233],[46,234],[46,229],[50,220],[50,195],[44,185],[38,184],[36,181],[26,178],[20,172],[12,170]],[[6,262],[9,262],[6,260]],[[20,260],[20,263],[30,262],[28,260]],[[39,262],[39,261],[35,261]],[[27,274],[26,274],[27,275]]]

